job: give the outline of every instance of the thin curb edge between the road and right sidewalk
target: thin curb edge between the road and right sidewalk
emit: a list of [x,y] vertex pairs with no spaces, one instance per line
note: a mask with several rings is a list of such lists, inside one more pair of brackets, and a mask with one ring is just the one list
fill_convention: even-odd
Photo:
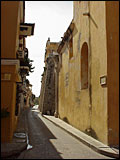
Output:
[[[94,151],[100,153],[100,154],[103,154],[105,156],[109,156],[109,157],[112,157],[112,158],[119,158],[119,154],[116,153],[115,151],[113,151],[109,146],[106,145],[106,148],[104,149],[101,149],[99,147],[96,147],[95,145],[91,144],[90,142],[86,141],[85,139],[81,138],[81,137],[78,137],[77,135],[71,133],[70,131],[66,130],[63,126],[59,125],[59,124],[56,124],[54,121],[52,121],[51,119],[49,119],[48,117],[42,115],[44,118],[46,118],[47,120],[51,121],[53,124],[55,124],[56,126],[60,127],[61,129],[63,129],[64,131],[66,131],[67,133],[69,133],[70,135],[72,135],[73,137],[75,137],[76,139],[78,139],[80,142],[82,142],[83,144],[85,144],[86,146],[90,147],[91,149],[93,149]],[[61,119],[60,119],[61,120]],[[92,138],[92,137],[90,137]],[[101,143],[101,142],[100,142]],[[104,145],[104,144],[103,144]],[[105,145],[104,145],[105,146]],[[106,149],[106,150],[105,150]],[[107,151],[108,150],[111,150],[110,151]]]

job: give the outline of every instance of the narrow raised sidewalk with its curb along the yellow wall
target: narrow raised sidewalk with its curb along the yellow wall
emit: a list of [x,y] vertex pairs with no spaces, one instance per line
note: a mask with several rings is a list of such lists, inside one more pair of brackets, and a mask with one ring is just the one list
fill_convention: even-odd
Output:
[[65,130],[75,138],[77,138],[79,141],[81,141],[82,143],[84,143],[94,151],[112,158],[119,158],[118,149],[110,148],[109,146],[97,141],[91,136],[88,136],[87,134],[72,127],[71,125],[67,124],[66,122],[64,122],[59,118],[55,118],[54,116],[49,116],[49,115],[42,115],[42,116],[48,119],[49,121],[51,121],[52,123],[54,123],[56,126],[59,126],[60,128],[62,128],[63,130]]

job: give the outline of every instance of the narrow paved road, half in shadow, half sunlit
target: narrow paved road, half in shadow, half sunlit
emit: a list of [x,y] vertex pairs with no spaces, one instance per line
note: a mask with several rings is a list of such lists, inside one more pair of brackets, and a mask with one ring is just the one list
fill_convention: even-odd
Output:
[[38,110],[29,110],[28,137],[32,146],[18,159],[113,159],[101,155],[42,117]]

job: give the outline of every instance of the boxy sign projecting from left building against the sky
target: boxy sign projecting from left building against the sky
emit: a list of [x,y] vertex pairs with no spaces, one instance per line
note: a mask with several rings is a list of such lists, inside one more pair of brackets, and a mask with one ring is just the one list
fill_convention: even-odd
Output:
[[34,34],[35,23],[21,23],[20,24],[20,36],[31,36]]

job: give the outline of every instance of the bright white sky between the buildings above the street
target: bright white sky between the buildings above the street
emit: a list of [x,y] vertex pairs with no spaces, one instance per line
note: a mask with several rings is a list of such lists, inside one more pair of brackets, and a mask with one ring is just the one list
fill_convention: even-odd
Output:
[[27,76],[36,97],[40,95],[41,74],[48,37],[51,42],[61,41],[73,18],[73,1],[25,1],[25,23],[35,23],[34,35],[26,38],[29,58],[35,66]]

